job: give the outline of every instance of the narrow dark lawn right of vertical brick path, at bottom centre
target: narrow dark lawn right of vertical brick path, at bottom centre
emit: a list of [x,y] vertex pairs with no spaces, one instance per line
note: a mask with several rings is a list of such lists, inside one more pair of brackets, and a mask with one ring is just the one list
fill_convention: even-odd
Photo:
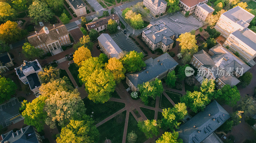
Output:
[[135,118],[132,116],[132,113],[129,115],[129,121],[128,121],[128,128],[127,128],[127,134],[134,131],[136,135],[138,136],[138,139],[136,143],[143,143],[147,140],[145,134],[140,131],[138,128],[138,122],[135,120]]

